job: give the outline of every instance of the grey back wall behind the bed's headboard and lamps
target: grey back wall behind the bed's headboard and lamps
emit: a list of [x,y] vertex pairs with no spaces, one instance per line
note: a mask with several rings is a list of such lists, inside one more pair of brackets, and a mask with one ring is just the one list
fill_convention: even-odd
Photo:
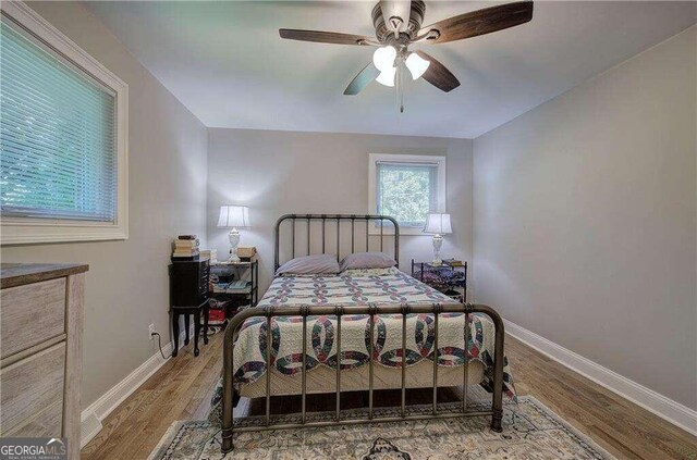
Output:
[[[260,288],[273,272],[273,225],[285,213],[368,212],[368,153],[445,154],[448,211],[453,234],[443,257],[472,259],[472,140],[363,134],[210,128],[208,130],[208,240],[219,259],[229,251],[218,228],[221,204],[249,207],[252,228],[242,245],[259,252]],[[400,266],[432,259],[430,236],[401,238]],[[375,248],[374,248],[375,250]]]

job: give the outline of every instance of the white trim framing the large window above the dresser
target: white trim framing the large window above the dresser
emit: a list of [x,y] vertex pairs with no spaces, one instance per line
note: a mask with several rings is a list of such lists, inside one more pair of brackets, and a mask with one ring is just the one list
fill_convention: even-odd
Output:
[[21,1],[3,1],[3,15],[111,88],[117,109],[117,215],[111,222],[2,217],[0,245],[129,238],[129,85]]

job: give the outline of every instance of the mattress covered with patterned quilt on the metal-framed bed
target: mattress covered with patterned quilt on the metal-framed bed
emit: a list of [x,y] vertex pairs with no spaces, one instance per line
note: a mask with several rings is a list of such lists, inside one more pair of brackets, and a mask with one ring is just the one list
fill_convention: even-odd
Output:
[[[257,307],[340,306],[341,352],[338,358],[337,318],[307,316],[306,381],[308,393],[335,391],[337,365],[341,389],[367,389],[370,361],[370,318],[351,314],[351,307],[380,304],[456,303],[450,297],[394,269],[383,275],[359,272],[343,276],[286,276],[273,279]],[[493,377],[494,327],[488,316],[470,314],[468,383],[489,386]],[[408,314],[406,357],[402,360],[402,315],[376,315],[372,326],[374,387],[401,388],[405,362],[407,387],[432,386],[436,325],[432,314]],[[441,313],[438,327],[439,386],[463,384],[465,315]],[[303,319],[271,321],[271,394],[301,393]],[[241,328],[233,353],[234,384],[241,396],[266,395],[267,319],[252,318]],[[513,398],[513,380],[504,361],[504,394]]]

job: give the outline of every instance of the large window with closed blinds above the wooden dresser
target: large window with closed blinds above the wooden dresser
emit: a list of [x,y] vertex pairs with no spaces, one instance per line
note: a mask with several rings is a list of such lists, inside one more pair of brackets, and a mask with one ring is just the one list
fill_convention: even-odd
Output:
[[5,5],[2,243],[125,238],[125,84],[22,3]]

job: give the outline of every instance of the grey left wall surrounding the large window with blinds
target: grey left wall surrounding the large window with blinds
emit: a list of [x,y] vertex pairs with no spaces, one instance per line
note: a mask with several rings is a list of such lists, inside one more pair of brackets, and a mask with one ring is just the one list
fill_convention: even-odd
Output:
[[80,3],[29,5],[129,84],[127,240],[2,247],[3,262],[89,264],[83,408],[158,352],[169,333],[171,240],[206,235],[205,126]]

